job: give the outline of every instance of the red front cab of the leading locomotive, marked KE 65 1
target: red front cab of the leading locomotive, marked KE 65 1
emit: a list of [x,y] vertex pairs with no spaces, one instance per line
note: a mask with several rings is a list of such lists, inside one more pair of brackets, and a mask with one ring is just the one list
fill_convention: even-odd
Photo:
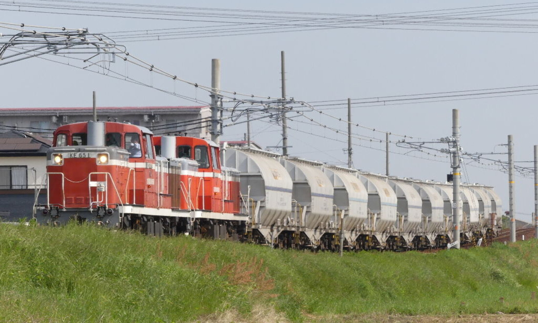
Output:
[[119,226],[111,215],[120,207],[166,207],[167,162],[155,157],[152,136],[144,127],[115,122],[59,127],[47,151],[43,220],[63,223],[74,217]]

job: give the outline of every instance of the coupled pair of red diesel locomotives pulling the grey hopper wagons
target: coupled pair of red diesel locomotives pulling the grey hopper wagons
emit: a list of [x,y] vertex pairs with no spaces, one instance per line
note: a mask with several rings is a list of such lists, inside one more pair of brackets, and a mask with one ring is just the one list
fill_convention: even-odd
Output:
[[221,166],[220,148],[211,141],[153,137],[132,124],[79,122],[56,129],[53,142],[47,203],[36,212],[40,223],[93,221],[153,235],[245,233],[238,172]]

